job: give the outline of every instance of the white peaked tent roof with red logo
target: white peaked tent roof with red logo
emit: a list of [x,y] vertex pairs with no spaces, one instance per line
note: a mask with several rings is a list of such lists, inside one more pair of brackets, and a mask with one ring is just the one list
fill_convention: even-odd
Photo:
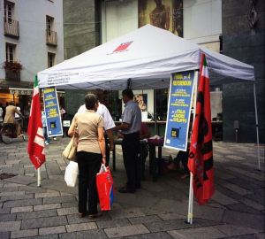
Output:
[[254,81],[254,67],[146,25],[40,73],[40,87],[63,89],[162,89],[170,73],[199,69],[204,52],[210,71]]

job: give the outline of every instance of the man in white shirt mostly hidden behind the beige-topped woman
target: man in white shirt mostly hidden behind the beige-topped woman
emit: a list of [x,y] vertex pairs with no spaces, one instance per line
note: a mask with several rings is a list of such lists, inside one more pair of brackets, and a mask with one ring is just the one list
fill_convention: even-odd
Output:
[[[87,111],[86,105],[83,104],[83,105],[81,105],[79,107],[78,113],[86,112],[86,111]],[[109,138],[110,146],[108,145],[108,142],[106,140],[106,161],[107,161],[106,166],[108,166],[109,162],[110,162],[110,151],[112,151],[113,147],[114,147],[114,139],[113,139],[113,135],[112,135],[112,130],[111,129],[113,127],[115,127],[115,123],[112,120],[112,117],[110,115],[110,112],[109,112],[108,108],[104,104],[99,103],[96,112],[103,117],[103,119],[104,119],[104,129],[105,129],[105,132],[106,132],[106,134],[107,134],[107,136]]]

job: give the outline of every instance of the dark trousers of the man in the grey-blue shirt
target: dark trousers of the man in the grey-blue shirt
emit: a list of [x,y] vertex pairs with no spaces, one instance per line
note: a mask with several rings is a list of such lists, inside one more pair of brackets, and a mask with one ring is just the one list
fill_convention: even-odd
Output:
[[128,190],[134,191],[140,187],[140,132],[124,134],[122,150],[127,174],[126,187]]

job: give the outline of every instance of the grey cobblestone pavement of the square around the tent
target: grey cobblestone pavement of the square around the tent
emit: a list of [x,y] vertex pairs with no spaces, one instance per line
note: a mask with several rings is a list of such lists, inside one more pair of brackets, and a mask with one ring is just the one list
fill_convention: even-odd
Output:
[[[189,179],[163,173],[154,182],[148,173],[135,194],[115,194],[110,212],[94,220],[77,216],[77,189],[66,187],[61,157],[68,138],[46,149],[42,187],[27,156],[27,142],[0,143],[0,238],[264,238],[264,146],[261,171],[256,146],[214,143],[216,193],[208,204],[193,204],[193,225],[186,224]],[[163,150],[163,155],[175,155]],[[110,163],[111,166],[111,163]],[[117,147],[115,186],[125,183],[122,154]]]

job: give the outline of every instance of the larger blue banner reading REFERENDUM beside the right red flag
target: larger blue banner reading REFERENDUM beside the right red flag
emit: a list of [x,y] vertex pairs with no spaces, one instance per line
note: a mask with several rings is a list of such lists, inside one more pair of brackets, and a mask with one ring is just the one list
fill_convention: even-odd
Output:
[[163,146],[186,151],[191,109],[193,104],[194,80],[198,72],[172,73],[170,96]]

